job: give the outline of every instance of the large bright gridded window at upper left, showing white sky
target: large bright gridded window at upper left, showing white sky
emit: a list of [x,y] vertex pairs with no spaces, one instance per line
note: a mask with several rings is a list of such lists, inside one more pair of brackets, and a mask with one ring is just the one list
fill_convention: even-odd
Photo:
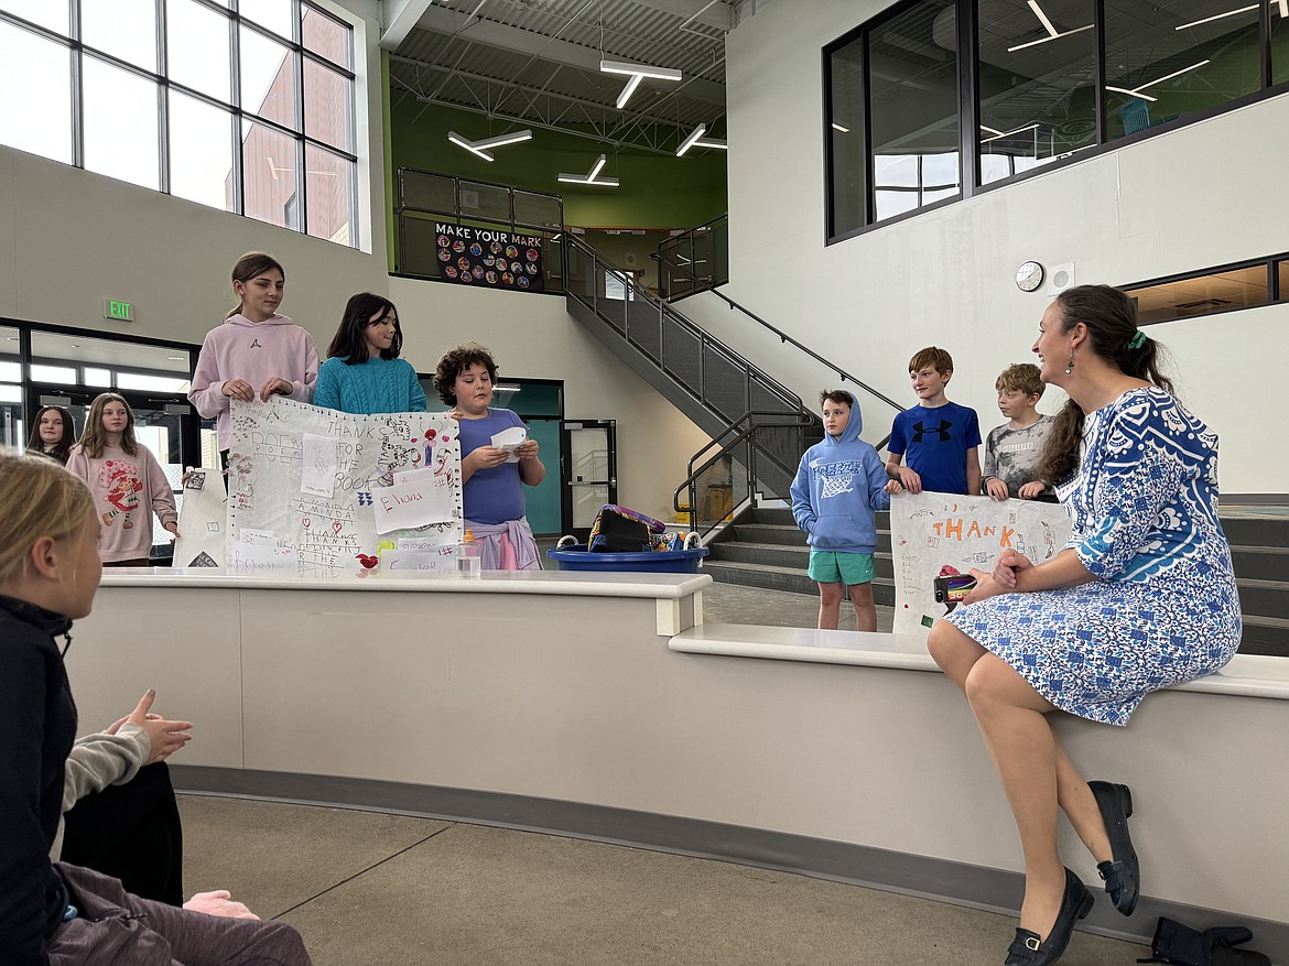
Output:
[[353,246],[352,63],[308,0],[0,0],[0,143]]

